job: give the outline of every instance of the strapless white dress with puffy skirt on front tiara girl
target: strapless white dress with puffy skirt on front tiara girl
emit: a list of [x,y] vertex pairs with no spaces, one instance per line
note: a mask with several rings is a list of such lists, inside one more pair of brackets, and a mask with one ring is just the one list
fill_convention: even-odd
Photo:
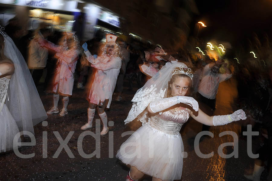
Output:
[[154,114],[125,141],[116,157],[141,172],[164,181],[181,178],[183,168],[182,125],[190,111]]

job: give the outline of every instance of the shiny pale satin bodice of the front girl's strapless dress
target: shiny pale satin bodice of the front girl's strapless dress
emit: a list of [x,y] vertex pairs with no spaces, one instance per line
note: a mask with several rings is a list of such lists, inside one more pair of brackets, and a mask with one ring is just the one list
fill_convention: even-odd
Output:
[[150,126],[166,134],[179,134],[184,123],[189,119],[189,110],[183,109],[176,113],[166,111],[150,118]]

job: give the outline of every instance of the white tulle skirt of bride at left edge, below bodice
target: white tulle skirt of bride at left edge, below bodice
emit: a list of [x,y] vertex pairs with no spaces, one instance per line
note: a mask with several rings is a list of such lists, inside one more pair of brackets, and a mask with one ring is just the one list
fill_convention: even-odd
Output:
[[[19,133],[18,126],[11,116],[8,107],[4,104],[0,112],[0,153],[13,149],[13,138]],[[19,138],[16,143],[20,142]],[[15,144],[18,146],[18,144]]]

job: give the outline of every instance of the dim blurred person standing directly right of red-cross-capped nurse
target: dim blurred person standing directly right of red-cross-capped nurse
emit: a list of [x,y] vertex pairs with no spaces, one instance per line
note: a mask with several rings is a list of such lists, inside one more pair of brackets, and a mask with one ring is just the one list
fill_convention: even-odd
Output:
[[126,74],[126,69],[129,62],[130,54],[128,50],[126,49],[127,45],[124,40],[118,40],[118,45],[121,47],[121,53],[123,58],[122,58],[122,66],[120,69],[120,73],[118,75],[117,82],[116,82],[116,94],[117,94],[116,101],[121,101],[122,100],[121,94],[124,89],[124,77]]

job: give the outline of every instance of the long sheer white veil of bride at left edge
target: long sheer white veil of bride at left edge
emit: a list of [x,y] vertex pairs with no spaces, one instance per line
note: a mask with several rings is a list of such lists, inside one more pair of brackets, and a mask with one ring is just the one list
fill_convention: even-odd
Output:
[[20,131],[34,133],[33,126],[47,118],[43,103],[24,57],[9,36],[5,37],[4,54],[15,67],[8,89],[9,111]]

